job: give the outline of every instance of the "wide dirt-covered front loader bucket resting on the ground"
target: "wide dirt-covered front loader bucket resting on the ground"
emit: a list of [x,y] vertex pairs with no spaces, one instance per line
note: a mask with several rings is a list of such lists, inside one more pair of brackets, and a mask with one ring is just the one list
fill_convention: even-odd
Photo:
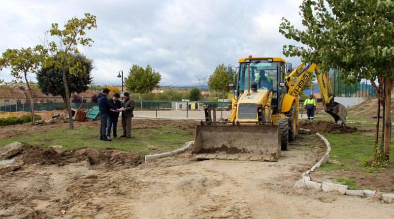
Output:
[[193,153],[200,159],[277,161],[278,125],[197,125]]

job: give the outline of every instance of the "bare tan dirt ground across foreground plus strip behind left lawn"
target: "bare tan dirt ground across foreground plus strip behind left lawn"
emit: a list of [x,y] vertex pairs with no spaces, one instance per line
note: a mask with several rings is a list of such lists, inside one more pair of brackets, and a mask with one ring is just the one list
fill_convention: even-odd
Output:
[[[170,124],[194,131],[197,123],[154,121],[135,120],[133,125]],[[291,143],[278,162],[197,161],[184,153],[140,163],[140,155],[112,149],[70,153],[25,147],[17,156],[25,165],[0,175],[0,218],[394,217],[393,206],[377,197],[292,188],[325,151],[314,135]]]

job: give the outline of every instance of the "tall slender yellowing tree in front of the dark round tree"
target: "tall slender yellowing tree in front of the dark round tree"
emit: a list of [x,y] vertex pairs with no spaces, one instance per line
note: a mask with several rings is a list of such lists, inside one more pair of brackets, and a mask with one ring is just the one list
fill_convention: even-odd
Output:
[[[59,24],[52,24],[52,28],[48,33],[56,38],[56,41],[49,42],[48,47],[52,56],[45,61],[46,66],[55,64],[56,67],[62,69],[63,83],[66,90],[66,105],[68,115],[71,115],[71,103],[69,98],[69,89],[66,78],[66,70],[69,74],[79,75],[85,73],[86,68],[79,67],[81,63],[75,60],[72,54],[78,54],[79,46],[92,46],[93,39],[86,36],[86,30],[97,28],[96,16],[85,13],[84,18],[71,18],[67,21],[63,30],[59,29]],[[70,128],[74,128],[72,120],[69,121]]]

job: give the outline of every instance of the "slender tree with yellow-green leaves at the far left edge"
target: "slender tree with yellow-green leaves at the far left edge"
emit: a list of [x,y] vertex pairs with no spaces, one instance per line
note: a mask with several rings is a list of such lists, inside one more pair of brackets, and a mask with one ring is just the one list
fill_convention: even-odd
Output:
[[[21,49],[7,49],[2,53],[0,58],[0,71],[2,68],[11,68],[11,75],[17,79],[25,78],[26,85],[29,88],[29,103],[30,111],[32,113],[32,123],[34,123],[34,105],[31,83],[27,78],[29,73],[35,73],[41,63],[47,56],[47,51],[42,45],[37,45],[32,48],[21,48]],[[22,75],[23,76],[22,76]],[[16,80],[15,80],[16,81]],[[31,82],[31,81],[30,81]]]

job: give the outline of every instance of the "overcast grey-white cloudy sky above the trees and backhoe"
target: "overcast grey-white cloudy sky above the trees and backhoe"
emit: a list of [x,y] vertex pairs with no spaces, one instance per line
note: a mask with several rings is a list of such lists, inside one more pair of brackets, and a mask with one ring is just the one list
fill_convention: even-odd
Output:
[[[67,19],[89,12],[98,27],[87,31],[95,42],[81,52],[94,61],[94,83],[120,85],[119,70],[126,75],[132,64],[149,63],[161,73],[160,85],[193,85],[217,65],[237,66],[250,54],[286,59],[282,46],[292,41],[279,33],[279,24],[285,17],[302,29],[301,1],[0,0],[0,53],[42,44],[52,23],[63,28]],[[12,76],[3,69],[0,78]]]

